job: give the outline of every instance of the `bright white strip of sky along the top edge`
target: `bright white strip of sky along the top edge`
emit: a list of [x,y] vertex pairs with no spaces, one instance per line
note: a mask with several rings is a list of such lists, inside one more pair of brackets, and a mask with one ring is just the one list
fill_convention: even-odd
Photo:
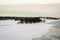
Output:
[[0,4],[16,3],[59,3],[60,0],[0,0]]

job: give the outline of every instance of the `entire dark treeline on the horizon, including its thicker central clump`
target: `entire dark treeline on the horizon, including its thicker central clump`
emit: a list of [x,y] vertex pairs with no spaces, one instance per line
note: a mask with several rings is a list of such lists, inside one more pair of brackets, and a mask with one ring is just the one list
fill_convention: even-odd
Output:
[[[43,19],[41,19],[43,18]],[[59,18],[53,17],[0,17],[0,20],[15,20],[19,23],[37,23],[37,22],[45,22],[45,19],[54,19],[57,20]]]

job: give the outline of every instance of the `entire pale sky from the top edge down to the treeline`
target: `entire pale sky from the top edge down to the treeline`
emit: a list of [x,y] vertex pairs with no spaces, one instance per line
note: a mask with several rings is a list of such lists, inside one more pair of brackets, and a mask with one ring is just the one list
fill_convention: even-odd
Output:
[[0,16],[60,17],[59,2],[59,0],[0,0]]

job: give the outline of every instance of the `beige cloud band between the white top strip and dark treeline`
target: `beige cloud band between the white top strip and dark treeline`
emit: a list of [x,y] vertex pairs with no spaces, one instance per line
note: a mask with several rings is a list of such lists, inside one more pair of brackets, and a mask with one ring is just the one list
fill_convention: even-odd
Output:
[[60,17],[60,4],[0,5],[0,15]]

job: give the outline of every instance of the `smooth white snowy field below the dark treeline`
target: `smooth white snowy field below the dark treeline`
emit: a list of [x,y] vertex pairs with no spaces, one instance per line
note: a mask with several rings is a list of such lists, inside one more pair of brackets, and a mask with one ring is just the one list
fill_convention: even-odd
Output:
[[46,34],[58,20],[46,20],[46,23],[17,24],[14,20],[0,21],[0,40],[32,40]]

